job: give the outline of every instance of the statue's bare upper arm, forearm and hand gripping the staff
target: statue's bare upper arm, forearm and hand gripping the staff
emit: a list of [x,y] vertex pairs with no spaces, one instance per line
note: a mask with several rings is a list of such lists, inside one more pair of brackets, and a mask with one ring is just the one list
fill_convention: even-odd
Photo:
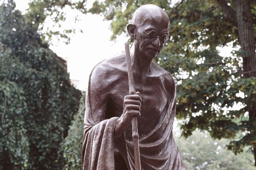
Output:
[[[113,83],[107,75],[113,74],[110,68],[98,65],[90,75],[89,85],[86,95],[86,114],[84,119],[84,129],[90,129],[93,125],[100,123],[106,117],[106,107],[108,100],[111,100],[110,84]],[[118,82],[116,82],[118,83]],[[120,137],[131,123],[132,116],[140,116],[140,94],[124,97],[123,113],[114,127],[114,138]]]

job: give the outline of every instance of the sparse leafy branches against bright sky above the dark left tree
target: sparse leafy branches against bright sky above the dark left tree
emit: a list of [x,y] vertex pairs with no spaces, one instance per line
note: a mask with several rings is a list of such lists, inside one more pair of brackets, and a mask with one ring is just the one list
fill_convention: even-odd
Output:
[[[69,43],[72,33],[82,30],[76,30],[72,24],[69,27],[62,26],[66,20],[66,12],[72,10],[78,14],[86,14],[86,4],[87,0],[31,0],[26,17],[38,28],[43,40],[50,40],[52,36],[55,36]],[[52,27],[44,27],[46,19],[53,21]],[[75,15],[73,21],[78,20],[78,15]]]

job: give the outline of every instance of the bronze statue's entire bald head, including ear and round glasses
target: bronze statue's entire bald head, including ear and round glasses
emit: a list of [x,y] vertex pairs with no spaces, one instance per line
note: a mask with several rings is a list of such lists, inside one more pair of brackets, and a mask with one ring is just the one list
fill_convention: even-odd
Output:
[[148,4],[138,8],[127,25],[134,48],[142,57],[156,57],[168,40],[169,17],[159,6]]

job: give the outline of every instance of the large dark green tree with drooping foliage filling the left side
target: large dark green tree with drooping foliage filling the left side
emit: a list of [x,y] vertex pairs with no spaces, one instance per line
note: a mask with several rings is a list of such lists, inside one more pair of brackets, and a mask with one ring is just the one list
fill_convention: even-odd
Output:
[[0,169],[63,167],[60,143],[80,97],[65,61],[42,43],[36,25],[15,9],[12,0],[2,4]]

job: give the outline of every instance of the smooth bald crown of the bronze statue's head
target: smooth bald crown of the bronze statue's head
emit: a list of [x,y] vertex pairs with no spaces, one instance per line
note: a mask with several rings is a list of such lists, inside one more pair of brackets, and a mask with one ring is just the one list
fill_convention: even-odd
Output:
[[132,23],[136,25],[143,25],[148,20],[155,20],[159,24],[169,24],[169,17],[166,12],[159,6],[153,4],[141,6],[132,16]]

